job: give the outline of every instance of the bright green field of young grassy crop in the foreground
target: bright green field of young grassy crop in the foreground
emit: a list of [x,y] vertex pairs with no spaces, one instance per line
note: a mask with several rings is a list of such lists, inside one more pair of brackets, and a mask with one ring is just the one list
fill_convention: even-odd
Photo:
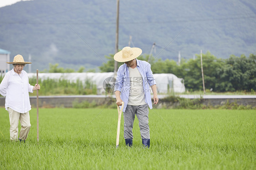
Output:
[[[143,149],[138,120],[133,148],[116,109],[36,109],[26,143],[10,142],[9,116],[0,108],[0,169],[256,169],[255,110],[150,110],[150,149]],[[121,121],[123,124],[123,118]],[[20,129],[20,128],[19,128]]]

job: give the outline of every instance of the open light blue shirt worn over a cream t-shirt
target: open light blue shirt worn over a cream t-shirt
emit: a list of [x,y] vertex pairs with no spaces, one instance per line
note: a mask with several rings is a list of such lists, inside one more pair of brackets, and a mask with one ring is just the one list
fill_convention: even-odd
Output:
[[[148,104],[149,108],[152,109],[153,107],[150,94],[150,86],[156,85],[156,82],[153,77],[151,65],[147,61],[137,60],[137,69],[139,73],[142,75],[145,102]],[[130,92],[129,69],[126,64],[123,64],[118,68],[117,79],[115,82],[115,91],[117,90],[121,92],[120,97],[124,102],[123,112],[125,112]]]

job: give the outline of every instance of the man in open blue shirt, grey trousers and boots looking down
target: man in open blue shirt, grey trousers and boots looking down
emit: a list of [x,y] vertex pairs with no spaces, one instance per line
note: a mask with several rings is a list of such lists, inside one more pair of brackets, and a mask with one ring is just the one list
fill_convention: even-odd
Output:
[[154,94],[155,105],[159,99],[151,65],[146,61],[136,59],[141,53],[142,50],[140,48],[124,47],[123,50],[114,55],[114,60],[124,62],[118,68],[115,95],[117,105],[122,105],[122,101],[124,102],[125,144],[128,146],[133,145],[133,121],[135,115],[137,115],[142,144],[148,148],[150,145],[148,106],[152,109],[149,86]]

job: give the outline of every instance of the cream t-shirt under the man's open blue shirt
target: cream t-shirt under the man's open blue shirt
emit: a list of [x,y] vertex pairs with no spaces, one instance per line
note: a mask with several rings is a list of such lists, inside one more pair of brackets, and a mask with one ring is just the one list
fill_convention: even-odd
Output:
[[129,69],[130,75],[130,93],[128,105],[145,105],[145,93],[143,89],[143,78],[139,73],[137,67]]

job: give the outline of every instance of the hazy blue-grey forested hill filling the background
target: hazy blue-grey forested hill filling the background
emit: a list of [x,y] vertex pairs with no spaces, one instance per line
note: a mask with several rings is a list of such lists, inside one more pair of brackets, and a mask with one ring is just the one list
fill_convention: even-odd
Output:
[[[0,8],[0,48],[32,71],[59,63],[96,68],[115,51],[116,0],[31,0]],[[255,0],[120,0],[119,49],[178,60],[210,51],[218,58],[256,52]],[[155,50],[151,50],[153,43]],[[27,68],[26,68],[27,69]]]

